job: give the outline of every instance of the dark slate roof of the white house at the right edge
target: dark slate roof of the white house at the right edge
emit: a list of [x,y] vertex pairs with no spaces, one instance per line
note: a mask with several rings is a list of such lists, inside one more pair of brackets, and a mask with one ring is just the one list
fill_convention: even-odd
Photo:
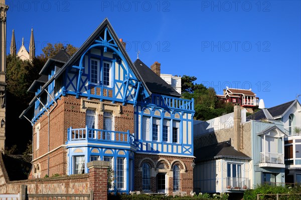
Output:
[[[283,103],[271,108],[268,108],[267,111],[272,115],[273,118],[282,116],[284,112],[294,103],[294,101],[289,101],[287,103]],[[247,117],[247,119],[252,119],[252,120],[261,120],[261,119],[266,119],[263,110],[259,110],[255,112],[254,114],[250,115]]]

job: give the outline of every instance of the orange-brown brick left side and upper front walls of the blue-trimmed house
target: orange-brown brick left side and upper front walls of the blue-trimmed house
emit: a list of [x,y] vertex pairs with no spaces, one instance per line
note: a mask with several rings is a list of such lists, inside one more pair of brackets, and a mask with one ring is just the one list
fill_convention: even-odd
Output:
[[[87,98],[83,98],[87,99]],[[91,99],[94,101],[95,99]],[[102,101],[102,103],[112,104],[110,101]],[[130,133],[134,132],[134,109],[132,105],[124,105],[115,102],[114,105],[121,107],[121,113],[114,117],[114,130]],[[54,108],[55,106],[55,108]],[[84,128],[86,126],[86,113],[81,112],[81,98],[77,99],[73,95],[62,96],[57,101],[57,105],[52,106],[48,119],[47,113],[43,114],[35,123],[35,127],[40,124],[40,148],[36,149],[36,132],[34,127],[34,161],[33,166],[40,164],[41,176],[44,177],[48,174],[49,163],[49,176],[53,174],[66,175],[67,174],[67,152],[64,149],[65,142],[67,141],[67,128]],[[104,110],[103,110],[104,111]],[[50,125],[48,126],[48,120]],[[103,116],[98,115],[98,129],[103,129]],[[49,150],[48,152],[48,131],[49,131]],[[49,161],[48,161],[49,156]],[[33,178],[33,172],[29,178]]]

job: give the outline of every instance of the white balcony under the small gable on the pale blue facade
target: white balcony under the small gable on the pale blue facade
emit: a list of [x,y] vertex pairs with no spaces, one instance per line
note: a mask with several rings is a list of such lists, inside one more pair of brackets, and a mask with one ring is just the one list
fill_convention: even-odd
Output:
[[284,168],[284,156],[283,153],[260,153],[259,167],[280,167]]

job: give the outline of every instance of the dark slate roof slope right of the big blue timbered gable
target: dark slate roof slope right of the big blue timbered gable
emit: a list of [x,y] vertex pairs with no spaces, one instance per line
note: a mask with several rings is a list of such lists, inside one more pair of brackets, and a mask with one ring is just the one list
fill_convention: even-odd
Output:
[[134,66],[150,92],[181,97],[181,95],[171,85],[165,82],[152,69],[147,67],[140,59],[137,59],[134,62]]

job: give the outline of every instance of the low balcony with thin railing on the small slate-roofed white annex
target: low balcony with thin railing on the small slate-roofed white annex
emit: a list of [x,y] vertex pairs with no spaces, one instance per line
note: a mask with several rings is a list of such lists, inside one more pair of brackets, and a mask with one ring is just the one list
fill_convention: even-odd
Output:
[[226,177],[223,188],[227,190],[246,190],[250,189],[250,179],[241,177]]

